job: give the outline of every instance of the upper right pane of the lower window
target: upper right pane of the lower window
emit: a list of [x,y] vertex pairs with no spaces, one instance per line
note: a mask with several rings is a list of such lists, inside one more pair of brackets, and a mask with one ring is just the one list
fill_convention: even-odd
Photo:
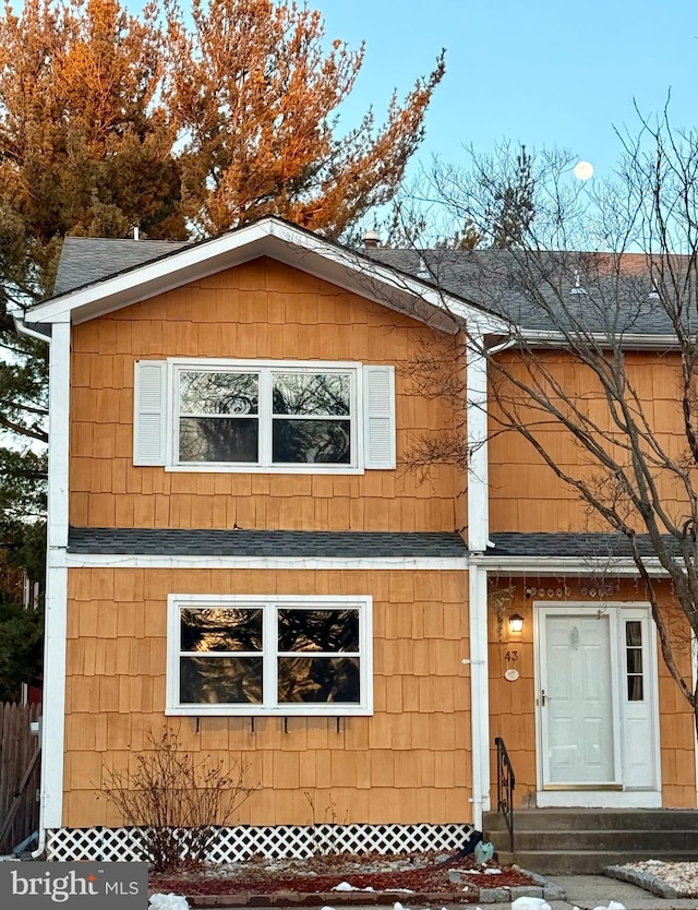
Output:
[[279,651],[358,651],[358,610],[279,610]]

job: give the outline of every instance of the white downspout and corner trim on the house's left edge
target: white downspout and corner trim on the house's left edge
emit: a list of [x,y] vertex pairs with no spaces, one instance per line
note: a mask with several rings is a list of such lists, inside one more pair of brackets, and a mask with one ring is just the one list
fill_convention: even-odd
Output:
[[70,404],[70,322],[50,326],[45,335],[13,314],[23,335],[50,343],[47,561],[41,711],[41,785],[39,836],[33,859],[46,850],[46,833],[61,826],[65,730],[65,646],[68,571],[68,456]]

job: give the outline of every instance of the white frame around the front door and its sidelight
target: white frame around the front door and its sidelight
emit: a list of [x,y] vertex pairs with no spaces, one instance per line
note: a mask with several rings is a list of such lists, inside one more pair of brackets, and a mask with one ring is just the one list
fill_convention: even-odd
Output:
[[[661,806],[661,765],[660,765],[660,739],[659,739],[659,692],[658,692],[658,668],[657,668],[657,635],[654,623],[651,620],[650,607],[647,602],[637,601],[533,601],[533,624],[534,624],[534,692],[535,692],[535,754],[537,754],[537,803],[539,806],[595,806],[595,807],[658,807]],[[543,678],[542,661],[544,659],[544,618],[549,614],[593,614],[599,610],[609,616],[609,634],[611,650],[611,674],[614,682],[611,693],[611,706],[613,711],[614,729],[614,785],[604,786],[600,789],[587,787],[574,787],[569,789],[556,787],[554,789],[544,786],[544,756],[543,756],[543,722],[541,708],[541,680]],[[648,692],[648,709],[651,719],[651,738],[653,758],[653,786],[648,789],[627,789],[623,779],[624,767],[624,732],[622,716],[622,687],[626,682],[626,670],[624,655],[621,654],[618,624],[623,619],[624,611],[641,611],[647,618],[648,642],[647,642],[647,672],[645,674]]]

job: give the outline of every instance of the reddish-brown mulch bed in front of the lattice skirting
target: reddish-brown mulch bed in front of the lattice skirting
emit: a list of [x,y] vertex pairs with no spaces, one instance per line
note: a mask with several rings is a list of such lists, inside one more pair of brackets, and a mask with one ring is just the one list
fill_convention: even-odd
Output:
[[[501,869],[491,862],[478,866],[472,857],[464,860],[437,862],[434,857],[315,857],[303,861],[252,860],[246,863],[207,869],[180,875],[153,875],[151,891],[179,894],[195,905],[214,903],[196,900],[202,896],[229,895],[230,905],[260,905],[255,896],[265,896],[262,903],[374,903],[399,900],[474,901],[481,887],[497,888],[530,885],[531,879],[515,869]],[[405,867],[409,865],[409,867]],[[357,869],[359,866],[359,869]],[[380,869],[376,869],[378,866]],[[393,867],[392,867],[393,866]],[[370,867],[370,869],[369,869]],[[485,870],[490,869],[491,873]],[[457,871],[455,883],[449,871]],[[501,870],[495,872],[495,870]],[[354,888],[372,891],[335,891],[341,882]],[[409,894],[407,891],[412,891]],[[313,900],[313,896],[322,901]],[[269,900],[274,896],[276,899]],[[246,898],[246,899],[245,899]],[[222,906],[219,900],[215,903]]]

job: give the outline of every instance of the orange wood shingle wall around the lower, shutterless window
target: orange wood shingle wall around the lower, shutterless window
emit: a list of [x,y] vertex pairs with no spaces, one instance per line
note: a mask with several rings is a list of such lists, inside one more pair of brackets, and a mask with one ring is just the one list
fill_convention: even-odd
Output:
[[[249,766],[241,824],[468,822],[467,573],[97,570],[69,573],[64,818],[119,825],[97,799],[164,729],[170,592],[372,594],[373,717],[170,718],[180,740]],[[308,795],[306,795],[308,794]]]

